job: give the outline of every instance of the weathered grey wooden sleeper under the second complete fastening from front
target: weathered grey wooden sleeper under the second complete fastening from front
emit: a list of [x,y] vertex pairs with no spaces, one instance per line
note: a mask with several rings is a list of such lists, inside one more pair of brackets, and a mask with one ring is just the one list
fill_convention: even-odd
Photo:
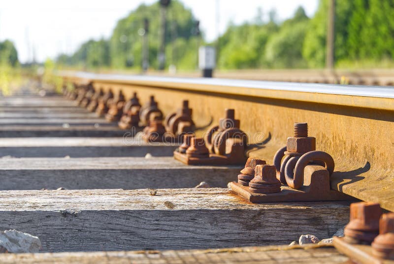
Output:
[[[126,155],[172,153],[175,147],[127,147]],[[83,151],[89,151],[83,148]],[[97,150],[97,149],[93,149]],[[105,149],[104,149],[105,150]],[[128,151],[127,151],[128,150]],[[1,148],[0,148],[1,151]],[[38,150],[42,151],[42,150]],[[73,149],[73,151],[77,151]],[[80,154],[86,153],[81,151]],[[119,155],[111,149],[114,156]],[[42,152],[40,152],[42,153]],[[59,154],[59,153],[58,153]],[[99,152],[97,152],[99,154]],[[0,158],[0,190],[226,187],[241,166],[188,166],[172,157]]]

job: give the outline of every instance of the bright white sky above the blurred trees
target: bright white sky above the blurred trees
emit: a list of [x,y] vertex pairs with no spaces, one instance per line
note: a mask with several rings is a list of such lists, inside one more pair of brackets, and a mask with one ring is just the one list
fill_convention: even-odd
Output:
[[[33,56],[42,62],[59,53],[71,54],[90,38],[109,38],[117,21],[141,3],[156,0],[3,0],[0,6],[0,40],[16,45],[22,63]],[[291,17],[298,6],[313,16],[318,0],[180,0],[200,20],[205,39],[223,34],[230,21],[252,21],[259,7],[263,18],[276,9],[278,21]],[[219,11],[218,11],[219,10]],[[219,17],[219,19],[218,19]],[[33,50],[35,52],[33,52]]]

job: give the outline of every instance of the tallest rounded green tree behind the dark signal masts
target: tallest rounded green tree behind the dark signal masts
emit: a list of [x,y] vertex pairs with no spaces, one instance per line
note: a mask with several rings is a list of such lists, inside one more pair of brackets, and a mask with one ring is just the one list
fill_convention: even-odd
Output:
[[[111,65],[115,68],[134,67],[140,68],[142,65],[142,35],[144,18],[149,19],[149,64],[151,67],[157,66],[157,53],[159,49],[159,31],[160,31],[160,5],[158,2],[152,5],[140,5],[136,10],[132,11],[126,18],[121,19],[110,39],[110,57]],[[193,37],[193,27],[195,18],[190,9],[187,9],[181,2],[177,0],[171,1],[167,8],[166,20],[166,51],[169,46],[189,41]],[[176,25],[175,27],[173,25]],[[174,32],[174,30],[176,32]],[[173,36],[176,35],[176,40]],[[175,41],[176,43],[172,43]],[[190,46],[191,48],[191,46]],[[197,52],[197,47],[193,52]],[[166,52],[167,53],[167,52]],[[182,53],[180,51],[179,53]],[[170,56],[166,54],[167,66],[171,63]],[[181,63],[182,57],[177,56],[176,61],[172,60],[175,65]]]

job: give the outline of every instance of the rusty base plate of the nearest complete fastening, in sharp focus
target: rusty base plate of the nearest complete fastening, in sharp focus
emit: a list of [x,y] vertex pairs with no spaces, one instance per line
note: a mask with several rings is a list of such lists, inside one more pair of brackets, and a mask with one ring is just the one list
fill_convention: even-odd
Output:
[[301,201],[343,201],[354,200],[355,198],[336,190],[330,189],[328,192],[311,192],[308,186],[301,189],[292,189],[289,186],[281,186],[280,192],[274,193],[254,193],[249,191],[249,187],[242,186],[236,182],[231,182],[230,187],[239,195],[245,197],[252,203],[262,202],[301,202]]

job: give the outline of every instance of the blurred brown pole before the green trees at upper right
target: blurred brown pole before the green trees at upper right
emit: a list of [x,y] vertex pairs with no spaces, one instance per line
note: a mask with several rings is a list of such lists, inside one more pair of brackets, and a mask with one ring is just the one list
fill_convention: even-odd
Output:
[[334,69],[335,0],[329,0],[326,42],[326,68]]

